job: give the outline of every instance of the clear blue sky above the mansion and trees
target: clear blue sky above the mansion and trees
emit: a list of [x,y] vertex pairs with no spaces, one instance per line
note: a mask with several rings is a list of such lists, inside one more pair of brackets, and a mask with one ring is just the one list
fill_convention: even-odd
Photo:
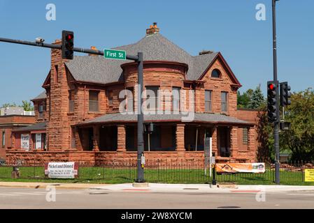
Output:
[[[47,21],[48,3],[57,20]],[[257,3],[266,21],[257,21]],[[314,1],[277,2],[278,79],[292,91],[314,86]],[[222,52],[243,85],[241,92],[273,77],[271,0],[206,1],[6,1],[0,0],[0,36],[52,43],[63,29],[75,33],[76,47],[98,49],[135,43],[157,22],[163,36],[192,55]],[[21,104],[43,91],[50,50],[0,43],[0,105]]]

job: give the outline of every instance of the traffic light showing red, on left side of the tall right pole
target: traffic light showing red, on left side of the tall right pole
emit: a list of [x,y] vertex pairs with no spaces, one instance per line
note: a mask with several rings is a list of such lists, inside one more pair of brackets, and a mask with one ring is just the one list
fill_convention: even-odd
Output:
[[278,120],[278,82],[267,82],[267,113],[269,122],[273,123]]

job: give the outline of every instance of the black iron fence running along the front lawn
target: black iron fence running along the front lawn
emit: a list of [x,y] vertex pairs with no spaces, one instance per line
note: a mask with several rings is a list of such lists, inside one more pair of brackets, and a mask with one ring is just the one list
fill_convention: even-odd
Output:
[[[313,162],[280,164],[280,183],[304,183],[304,170],[314,169]],[[15,171],[13,171],[15,170]],[[78,177],[73,180],[92,180],[97,183],[131,183],[136,179],[136,160],[123,162],[78,162]],[[145,180],[150,183],[211,183],[213,174],[204,160],[146,160]],[[0,178],[49,179],[43,162],[14,162],[0,165]],[[272,184],[274,164],[266,164],[262,174],[216,174],[217,183]]]

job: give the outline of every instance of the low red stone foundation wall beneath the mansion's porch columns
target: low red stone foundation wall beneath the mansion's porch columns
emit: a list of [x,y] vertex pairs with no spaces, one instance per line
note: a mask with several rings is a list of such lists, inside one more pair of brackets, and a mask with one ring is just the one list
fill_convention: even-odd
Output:
[[[86,162],[89,164],[106,162],[136,162],[136,152],[107,151],[7,151],[6,162],[15,164],[43,164],[46,162]],[[145,151],[146,163],[156,162],[204,162],[204,151]],[[243,162],[232,157],[216,157],[216,162]]]

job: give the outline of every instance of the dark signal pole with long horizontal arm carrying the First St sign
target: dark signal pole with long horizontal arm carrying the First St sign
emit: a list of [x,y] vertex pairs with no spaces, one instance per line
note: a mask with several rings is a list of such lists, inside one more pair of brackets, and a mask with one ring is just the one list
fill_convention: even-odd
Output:
[[[50,49],[62,49],[62,45],[54,45],[50,43],[36,43],[36,42],[30,42],[25,40],[13,40],[9,38],[0,38],[0,42],[6,42],[6,43],[15,43],[15,44],[21,44],[21,45],[30,45],[34,47],[45,47]],[[85,49],[80,47],[73,47],[73,52],[80,52],[85,54],[96,54],[104,56],[104,51],[95,50],[95,49]],[[137,165],[138,165],[138,176],[136,179],[136,182],[138,183],[144,183],[144,168],[142,167],[142,155],[144,154],[144,129],[143,129],[143,52],[138,52],[137,55],[128,55],[127,59],[136,61],[138,63],[138,123],[137,123],[137,141],[138,141],[138,152],[137,152]]]

